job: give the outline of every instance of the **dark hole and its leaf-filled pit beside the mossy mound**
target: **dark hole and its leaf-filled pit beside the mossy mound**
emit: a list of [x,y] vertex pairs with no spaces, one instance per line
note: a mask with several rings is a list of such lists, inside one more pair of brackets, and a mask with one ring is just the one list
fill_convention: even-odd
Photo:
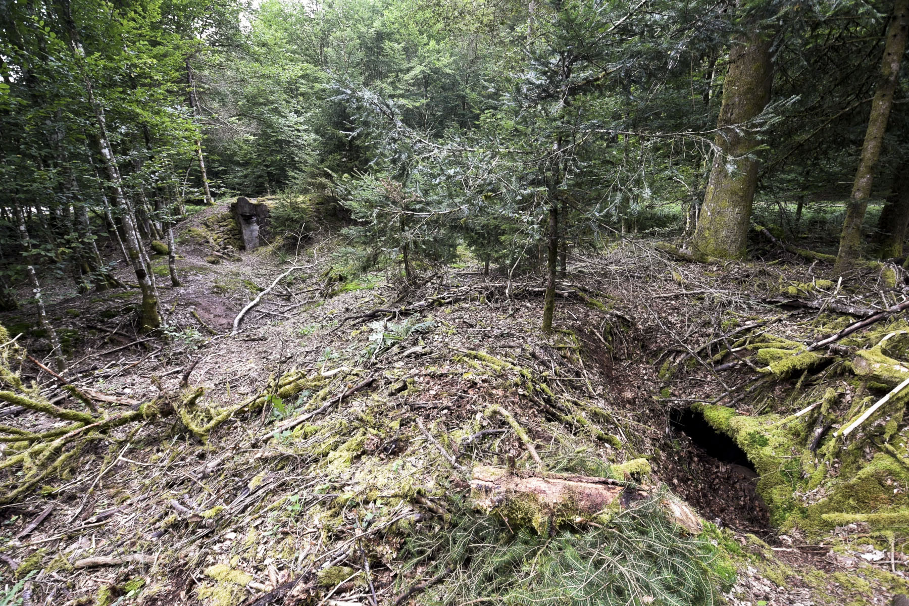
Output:
[[738,444],[691,409],[671,411],[669,426],[674,452],[665,471],[674,492],[706,520],[743,531],[769,530],[754,463]]

